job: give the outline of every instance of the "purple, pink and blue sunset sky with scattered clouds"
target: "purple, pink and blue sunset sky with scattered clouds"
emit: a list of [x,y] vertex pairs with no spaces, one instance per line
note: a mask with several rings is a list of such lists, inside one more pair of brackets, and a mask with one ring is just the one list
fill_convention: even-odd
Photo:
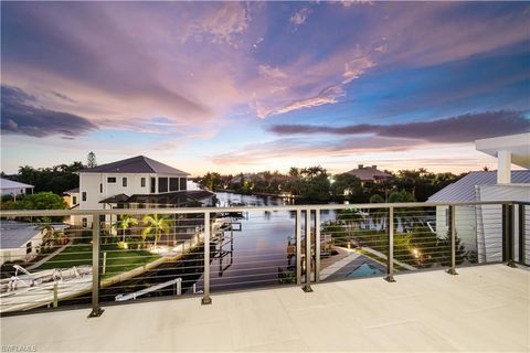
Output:
[[528,2],[1,2],[1,170],[496,168],[530,131]]

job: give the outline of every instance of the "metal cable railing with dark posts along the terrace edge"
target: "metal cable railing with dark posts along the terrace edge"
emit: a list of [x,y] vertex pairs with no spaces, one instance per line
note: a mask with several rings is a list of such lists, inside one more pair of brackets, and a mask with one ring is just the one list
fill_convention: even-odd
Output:
[[0,313],[505,263],[529,265],[520,202],[1,211]]

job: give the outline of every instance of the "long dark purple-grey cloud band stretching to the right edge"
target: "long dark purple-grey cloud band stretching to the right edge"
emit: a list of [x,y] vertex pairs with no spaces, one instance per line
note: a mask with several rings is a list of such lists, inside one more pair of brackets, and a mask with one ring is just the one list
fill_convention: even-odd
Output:
[[311,125],[274,125],[269,129],[278,135],[361,135],[406,138],[428,142],[471,142],[476,139],[530,131],[530,120],[521,111],[499,110],[466,114],[457,117],[422,122],[342,127]]

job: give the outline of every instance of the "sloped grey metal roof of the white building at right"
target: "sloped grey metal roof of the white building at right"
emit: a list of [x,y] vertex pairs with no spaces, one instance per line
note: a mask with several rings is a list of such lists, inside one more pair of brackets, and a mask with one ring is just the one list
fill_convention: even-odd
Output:
[[[512,184],[530,184],[530,170],[515,170],[511,172]],[[427,202],[466,202],[475,201],[476,185],[497,184],[496,171],[470,172],[457,182],[449,184],[428,197]]]

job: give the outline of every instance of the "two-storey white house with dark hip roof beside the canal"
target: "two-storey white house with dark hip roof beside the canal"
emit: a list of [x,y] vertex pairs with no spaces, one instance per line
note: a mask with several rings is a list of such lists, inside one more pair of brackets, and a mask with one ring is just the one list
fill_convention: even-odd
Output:
[[[66,191],[71,207],[112,210],[124,207],[184,207],[211,205],[214,194],[188,191],[188,173],[145,156],[84,169],[78,190]],[[78,205],[78,206],[77,206]],[[110,216],[100,220],[112,222]],[[72,216],[71,222],[92,227],[92,216]]]

